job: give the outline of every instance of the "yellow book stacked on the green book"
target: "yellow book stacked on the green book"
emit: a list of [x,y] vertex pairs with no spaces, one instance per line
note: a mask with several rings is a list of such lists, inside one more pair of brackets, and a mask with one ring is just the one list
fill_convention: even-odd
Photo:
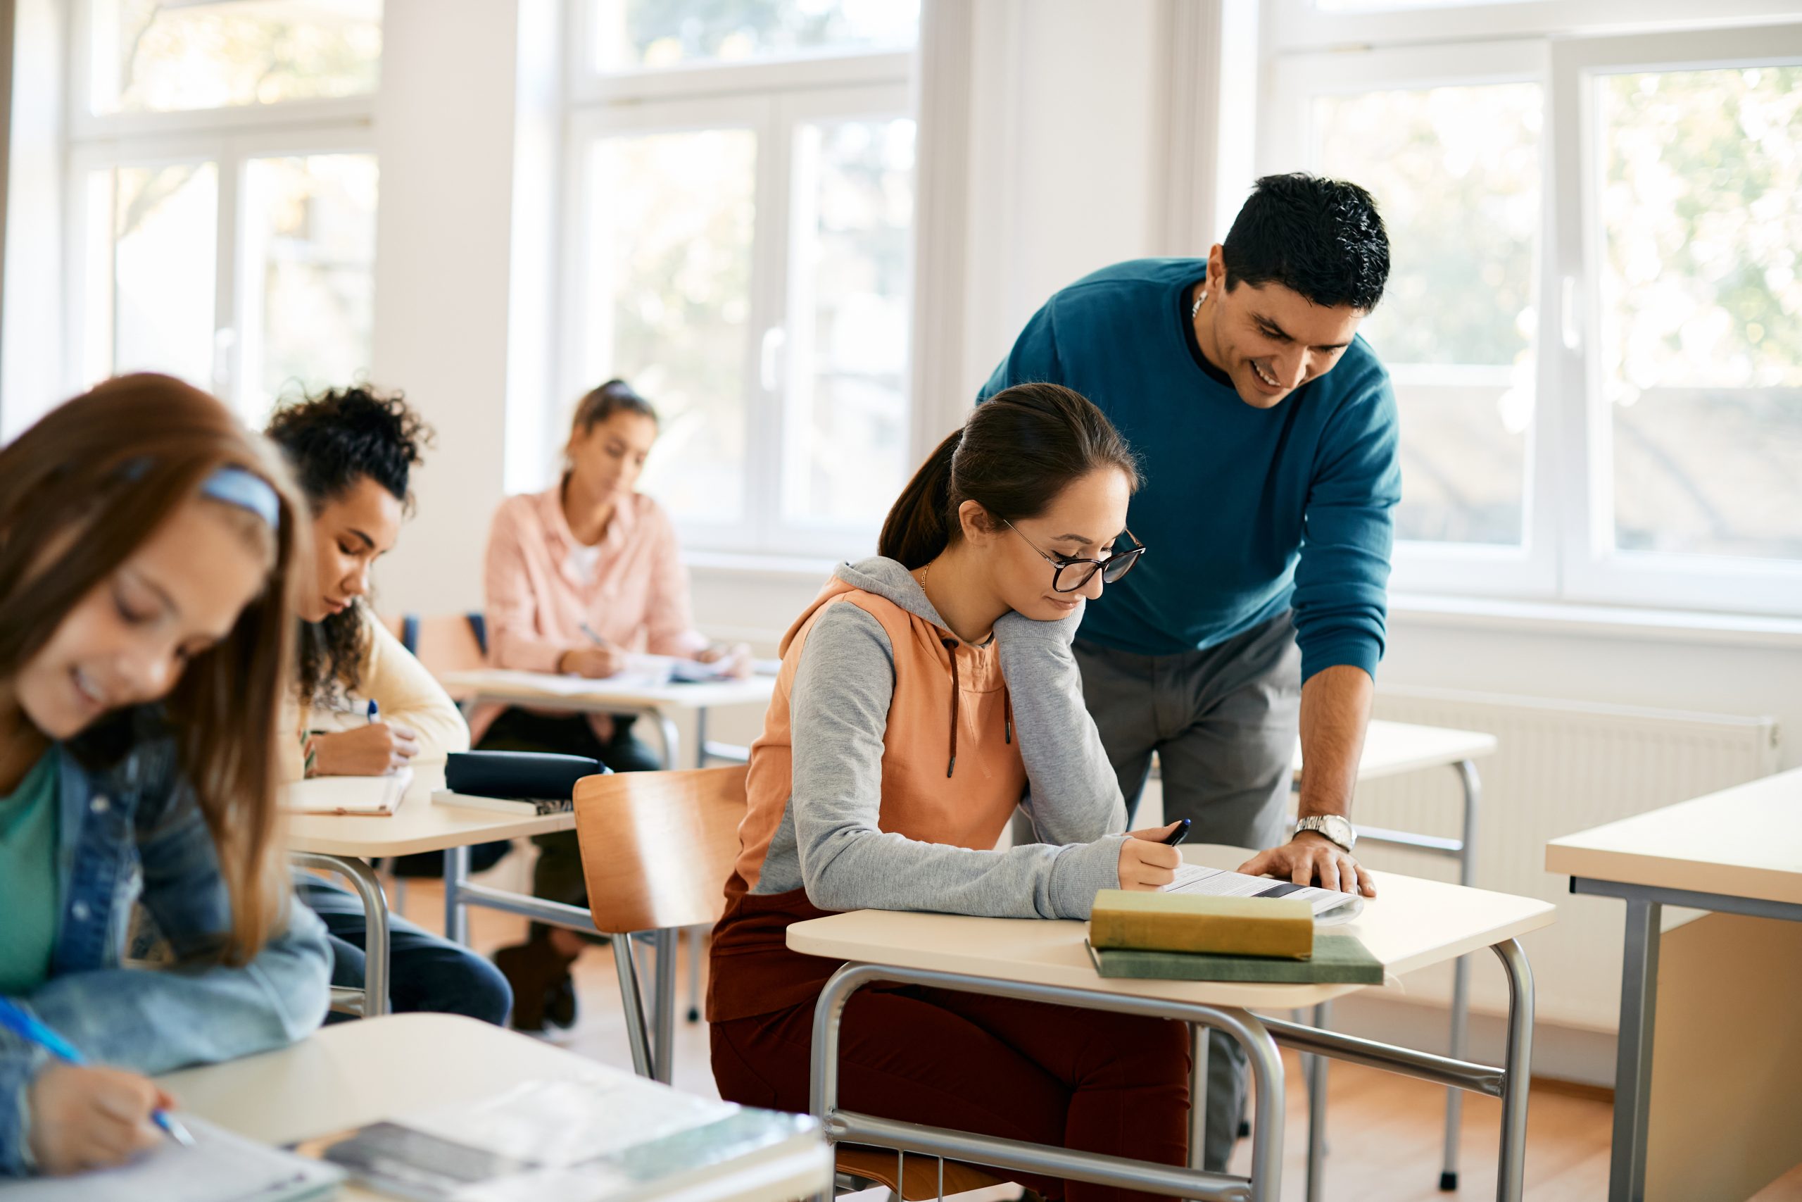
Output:
[[1314,955],[1314,908],[1292,897],[1103,888],[1088,917],[1088,942],[1096,948],[1305,961]]

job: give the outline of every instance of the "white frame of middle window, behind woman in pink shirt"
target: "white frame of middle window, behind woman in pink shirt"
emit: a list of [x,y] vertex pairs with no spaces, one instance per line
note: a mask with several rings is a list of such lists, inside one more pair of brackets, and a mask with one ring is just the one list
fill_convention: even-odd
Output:
[[[685,550],[750,553],[757,557],[836,557],[874,542],[876,526],[787,523],[782,517],[782,479],[787,452],[798,445],[789,431],[787,382],[804,368],[805,339],[789,330],[796,297],[795,211],[791,198],[793,132],[822,119],[912,117],[915,50],[807,52],[746,63],[683,63],[638,72],[600,72],[593,63],[593,7],[568,0],[566,9],[566,115],[562,178],[562,317],[557,328],[557,395],[548,398],[541,461],[555,463],[568,436],[569,405],[593,387],[582,362],[580,332],[587,328],[589,258],[587,155],[596,139],[631,133],[748,128],[757,135],[755,218],[751,234],[750,314],[744,346],[744,497],[735,523],[678,519]],[[915,196],[919,195],[915,162]],[[917,214],[917,205],[915,205]],[[908,256],[910,292],[915,287],[917,223]],[[903,395],[910,407],[906,460],[914,445],[912,346],[915,308],[908,308],[903,350]],[[773,335],[780,332],[780,341]],[[654,398],[652,398],[654,400]],[[548,478],[546,481],[548,483]]]

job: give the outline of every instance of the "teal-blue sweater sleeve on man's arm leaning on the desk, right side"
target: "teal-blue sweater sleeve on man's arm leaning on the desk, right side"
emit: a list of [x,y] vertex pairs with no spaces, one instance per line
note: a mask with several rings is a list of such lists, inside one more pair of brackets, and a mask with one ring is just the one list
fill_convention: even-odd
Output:
[[1303,681],[1339,663],[1377,676],[1402,499],[1397,445],[1395,389],[1379,368],[1328,420],[1308,487],[1294,595]]

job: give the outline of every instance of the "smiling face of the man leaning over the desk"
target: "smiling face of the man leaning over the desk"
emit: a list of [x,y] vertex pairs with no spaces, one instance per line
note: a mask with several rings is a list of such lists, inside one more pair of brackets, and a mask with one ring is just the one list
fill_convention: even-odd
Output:
[[1294,288],[1267,281],[1233,283],[1222,247],[1207,256],[1207,279],[1189,303],[1195,341],[1207,362],[1233,380],[1233,389],[1254,409],[1272,409],[1290,393],[1317,380],[1352,346],[1364,310],[1315,305]]

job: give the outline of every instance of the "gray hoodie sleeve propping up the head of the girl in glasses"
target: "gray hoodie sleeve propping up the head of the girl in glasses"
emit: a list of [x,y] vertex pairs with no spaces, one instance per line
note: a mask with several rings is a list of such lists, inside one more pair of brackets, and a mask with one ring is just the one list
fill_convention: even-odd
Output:
[[1006,613],[995,624],[1015,739],[1025,760],[1027,797],[1020,807],[1043,843],[1087,843],[1126,829],[1119,777],[1083,705],[1083,676],[1070,652],[1081,622],[1083,606],[1058,622]]

